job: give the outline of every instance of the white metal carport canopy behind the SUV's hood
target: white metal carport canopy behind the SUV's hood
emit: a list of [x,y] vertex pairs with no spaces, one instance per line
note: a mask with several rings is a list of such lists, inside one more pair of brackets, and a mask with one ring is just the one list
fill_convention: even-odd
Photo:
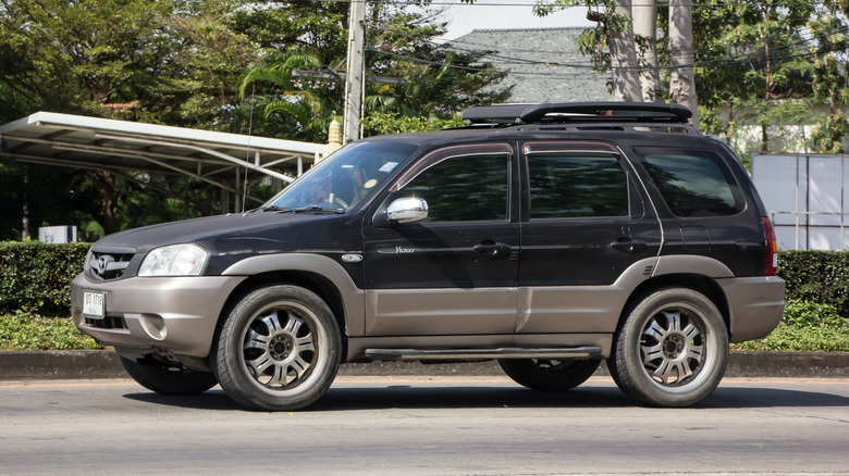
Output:
[[37,112],[0,126],[0,155],[22,162],[182,174],[224,193],[241,192],[248,171],[290,183],[325,147],[52,112]]

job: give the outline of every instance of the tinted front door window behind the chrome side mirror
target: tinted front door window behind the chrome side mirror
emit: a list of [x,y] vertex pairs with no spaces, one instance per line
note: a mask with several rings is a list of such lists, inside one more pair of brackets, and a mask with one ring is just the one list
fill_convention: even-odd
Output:
[[428,202],[426,222],[506,220],[509,155],[464,155],[420,173],[398,192]]

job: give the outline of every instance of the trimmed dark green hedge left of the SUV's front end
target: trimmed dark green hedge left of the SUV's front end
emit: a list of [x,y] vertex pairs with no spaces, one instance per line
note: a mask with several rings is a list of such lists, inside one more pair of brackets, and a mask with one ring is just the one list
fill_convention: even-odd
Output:
[[71,313],[71,280],[91,243],[0,242],[0,313]]

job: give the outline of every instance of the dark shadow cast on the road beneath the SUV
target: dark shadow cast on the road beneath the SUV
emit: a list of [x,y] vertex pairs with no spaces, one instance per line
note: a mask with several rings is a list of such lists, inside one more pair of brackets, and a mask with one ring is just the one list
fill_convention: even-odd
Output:
[[[158,405],[198,410],[249,411],[230,400],[218,387],[199,396],[175,397],[153,392],[127,393],[127,399]],[[302,412],[334,412],[386,409],[493,409],[570,408],[613,409],[638,406],[616,387],[587,385],[565,392],[533,391],[504,386],[387,385],[385,387],[331,387],[313,405]],[[817,391],[767,387],[716,389],[693,409],[849,406],[849,398]]]

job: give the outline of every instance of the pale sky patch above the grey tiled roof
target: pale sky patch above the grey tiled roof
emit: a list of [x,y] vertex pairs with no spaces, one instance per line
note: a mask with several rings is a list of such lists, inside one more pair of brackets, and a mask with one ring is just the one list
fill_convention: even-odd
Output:
[[472,29],[482,28],[595,26],[587,20],[585,7],[569,8],[540,17],[531,11],[534,3],[533,0],[476,0],[475,4],[467,4],[459,0],[434,0],[433,7],[445,9],[441,17],[448,23],[448,32],[443,39],[456,39]]

